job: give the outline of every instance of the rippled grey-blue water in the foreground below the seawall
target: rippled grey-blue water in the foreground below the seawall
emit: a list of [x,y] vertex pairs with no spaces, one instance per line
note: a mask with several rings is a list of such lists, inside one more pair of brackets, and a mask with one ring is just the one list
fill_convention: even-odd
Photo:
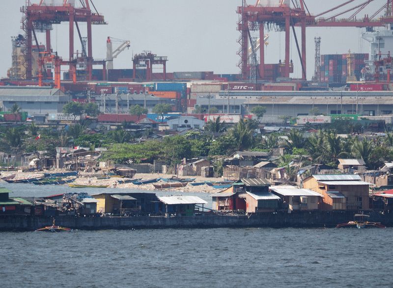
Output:
[[393,229],[1,233],[2,287],[392,287]]

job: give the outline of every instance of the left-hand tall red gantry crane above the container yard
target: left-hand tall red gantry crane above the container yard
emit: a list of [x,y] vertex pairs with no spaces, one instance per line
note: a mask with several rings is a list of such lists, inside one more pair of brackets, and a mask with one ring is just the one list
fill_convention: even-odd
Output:
[[[32,79],[32,38],[34,37],[37,41],[36,32],[46,33],[46,52],[47,54],[52,53],[51,49],[51,30],[54,24],[60,24],[61,22],[69,22],[69,60],[62,61],[62,64],[69,65],[70,79],[76,79],[75,74],[77,70],[77,64],[80,63],[80,59],[75,57],[74,53],[74,26],[78,30],[79,38],[81,40],[82,49],[85,55],[85,69],[86,79],[91,80],[93,64],[103,65],[103,75],[105,75],[105,61],[94,61],[93,49],[92,49],[92,25],[104,25],[104,16],[100,15],[94,6],[92,0],[79,0],[82,7],[76,8],[75,5],[70,3],[68,0],[63,0],[62,6],[53,6],[46,4],[45,0],[40,0],[38,4],[31,4],[29,0],[26,0],[26,6],[22,8],[24,13],[23,28],[26,32],[26,66],[27,66],[27,79]],[[94,8],[95,12],[90,9],[90,3]],[[82,40],[81,30],[78,23],[85,22],[87,24],[87,52],[84,47],[84,41]],[[42,51],[40,51],[42,52]]]

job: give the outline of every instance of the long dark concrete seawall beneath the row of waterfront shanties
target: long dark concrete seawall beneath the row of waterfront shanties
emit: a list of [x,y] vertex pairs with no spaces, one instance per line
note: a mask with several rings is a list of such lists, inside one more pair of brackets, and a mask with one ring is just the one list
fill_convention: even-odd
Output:
[[[353,220],[353,212],[263,213],[252,215],[203,215],[183,217],[56,217],[56,225],[80,230],[245,227],[335,227]],[[393,226],[392,215],[374,213],[369,221]],[[0,231],[33,231],[50,226],[51,217],[1,215]]]

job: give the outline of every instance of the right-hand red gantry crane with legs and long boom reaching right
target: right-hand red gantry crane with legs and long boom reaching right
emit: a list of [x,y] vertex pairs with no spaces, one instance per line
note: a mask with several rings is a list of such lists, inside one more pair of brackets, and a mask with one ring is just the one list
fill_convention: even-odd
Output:
[[[317,16],[321,16],[337,10],[338,8],[344,7],[354,0],[348,0],[332,9],[325,12],[319,13]],[[238,7],[237,13],[242,16],[242,21],[238,24],[238,30],[242,31],[242,75],[243,79],[249,77],[249,63],[248,63],[248,32],[250,30],[259,29],[259,37],[263,39],[264,36],[264,24],[274,24],[280,26],[285,32],[285,70],[284,76],[289,77],[289,52],[290,52],[290,26],[300,26],[301,27],[301,61],[304,67],[302,78],[306,79],[306,27],[378,27],[384,26],[389,23],[393,23],[392,11],[387,13],[388,16],[380,18],[378,20],[371,20],[375,17],[373,15],[371,19],[367,15],[363,19],[356,19],[355,16],[370,2],[374,0],[367,0],[364,3],[357,5],[355,7],[345,10],[342,15],[346,12],[356,10],[350,19],[337,19],[336,17],[330,17],[327,19],[316,19],[316,16],[312,16],[306,13],[305,7],[306,3],[304,0],[300,0],[300,7],[290,8],[287,5],[281,4],[279,7],[261,7],[256,5],[246,5]],[[393,7],[393,0],[387,0],[384,7]],[[378,11],[380,11],[380,8]],[[389,11],[388,11],[389,12]],[[264,47],[260,45],[260,65],[259,65],[259,76],[261,79],[264,78]]]

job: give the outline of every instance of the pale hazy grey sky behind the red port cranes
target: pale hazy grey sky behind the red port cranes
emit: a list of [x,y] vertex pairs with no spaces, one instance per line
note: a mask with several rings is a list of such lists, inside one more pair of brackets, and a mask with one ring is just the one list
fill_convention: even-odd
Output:
[[[38,3],[39,0],[32,0]],[[114,68],[132,68],[132,52],[149,50],[159,56],[168,56],[168,72],[214,71],[239,73],[236,66],[239,56],[239,31],[236,30],[236,7],[241,0],[94,0],[98,12],[105,16],[109,25],[93,26],[93,56],[106,57],[107,36],[131,41],[131,49],[114,60]],[[327,3],[328,2],[328,3]],[[342,3],[340,0],[306,0],[312,14],[328,10]],[[355,0],[361,3],[362,0]],[[255,0],[249,0],[254,4]],[[368,12],[373,14],[386,0],[375,0]],[[0,0],[0,77],[5,77],[11,66],[11,36],[22,33],[20,7],[25,0]],[[355,4],[353,4],[355,5]],[[362,13],[364,15],[365,13]],[[86,35],[86,26],[80,24]],[[68,23],[54,26],[52,48],[60,56],[68,58]],[[75,33],[76,29],[75,29]],[[298,38],[300,39],[300,31]],[[308,79],[314,70],[314,37],[321,36],[321,53],[346,53],[369,51],[368,43],[361,41],[361,29],[357,28],[307,28]],[[266,63],[278,63],[284,54],[284,33],[270,32],[266,48]],[[38,33],[44,43],[44,34]],[[75,50],[81,50],[75,35]],[[292,41],[291,58],[295,73],[301,76],[296,44]],[[158,72],[158,70],[157,70]]]

